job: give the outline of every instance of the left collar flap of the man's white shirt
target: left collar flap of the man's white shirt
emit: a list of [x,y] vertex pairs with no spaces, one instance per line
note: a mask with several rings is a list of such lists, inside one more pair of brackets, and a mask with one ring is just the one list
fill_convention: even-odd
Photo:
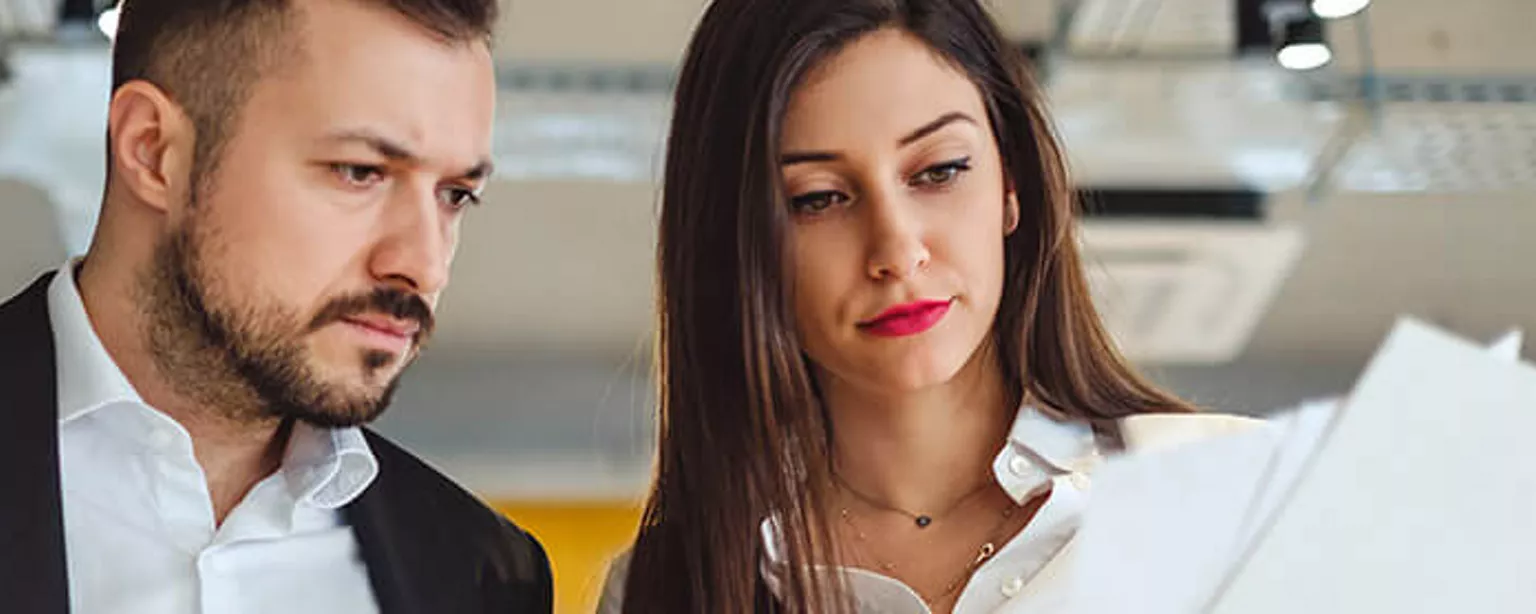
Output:
[[75,269],[80,259],[65,262],[48,286],[48,319],[54,328],[55,368],[58,373],[58,422],[66,424],[106,405],[143,404],[117,362],[106,353],[91,325]]

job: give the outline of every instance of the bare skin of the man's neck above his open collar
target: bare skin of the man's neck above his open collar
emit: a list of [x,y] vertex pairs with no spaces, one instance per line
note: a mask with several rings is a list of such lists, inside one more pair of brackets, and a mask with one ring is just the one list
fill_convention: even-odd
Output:
[[134,299],[137,272],[103,270],[112,266],[103,261],[86,259],[75,275],[91,328],[144,404],[170,416],[192,436],[192,450],[207,479],[214,522],[223,525],[246,493],[281,467],[292,428],[275,418],[235,419],[232,416],[253,411],[214,408],[172,385],[144,338],[146,325]]

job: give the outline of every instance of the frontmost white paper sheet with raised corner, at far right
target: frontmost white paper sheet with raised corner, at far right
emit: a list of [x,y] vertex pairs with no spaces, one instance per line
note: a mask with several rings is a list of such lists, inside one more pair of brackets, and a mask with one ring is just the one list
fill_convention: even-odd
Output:
[[1209,611],[1536,612],[1536,368],[1504,353],[1401,322]]

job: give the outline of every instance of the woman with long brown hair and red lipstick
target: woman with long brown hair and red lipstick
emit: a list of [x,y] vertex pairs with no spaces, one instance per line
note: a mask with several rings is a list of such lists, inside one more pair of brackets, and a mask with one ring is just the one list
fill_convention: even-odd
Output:
[[[1117,355],[975,0],[716,0],[659,247],[656,482],[604,611],[1051,611]],[[1046,586],[1051,588],[1046,588]]]

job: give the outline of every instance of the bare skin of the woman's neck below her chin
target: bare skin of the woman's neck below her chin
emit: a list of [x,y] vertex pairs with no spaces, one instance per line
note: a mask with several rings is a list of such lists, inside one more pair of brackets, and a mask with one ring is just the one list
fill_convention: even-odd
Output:
[[951,381],[923,390],[888,393],[825,381],[839,479],[911,513],[945,510],[991,480],[1015,408],[989,356],[977,352]]

